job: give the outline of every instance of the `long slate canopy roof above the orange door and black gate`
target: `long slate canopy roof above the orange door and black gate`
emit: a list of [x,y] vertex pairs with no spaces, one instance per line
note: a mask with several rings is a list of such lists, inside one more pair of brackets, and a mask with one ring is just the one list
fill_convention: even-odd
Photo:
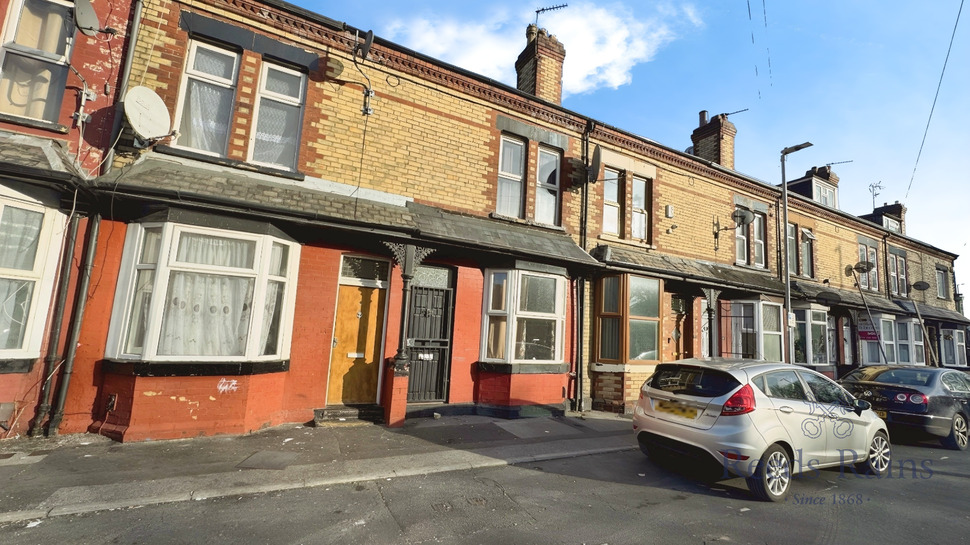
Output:
[[[348,229],[377,228],[415,241],[599,265],[563,231],[458,214],[376,191],[350,188],[352,191],[348,192],[348,186],[332,182],[287,180],[158,154],[102,176],[96,180],[96,187],[147,199],[164,195],[169,199],[220,203],[248,212],[272,211],[280,217],[299,217],[309,223],[319,221]],[[327,187],[333,190],[328,191]]]

